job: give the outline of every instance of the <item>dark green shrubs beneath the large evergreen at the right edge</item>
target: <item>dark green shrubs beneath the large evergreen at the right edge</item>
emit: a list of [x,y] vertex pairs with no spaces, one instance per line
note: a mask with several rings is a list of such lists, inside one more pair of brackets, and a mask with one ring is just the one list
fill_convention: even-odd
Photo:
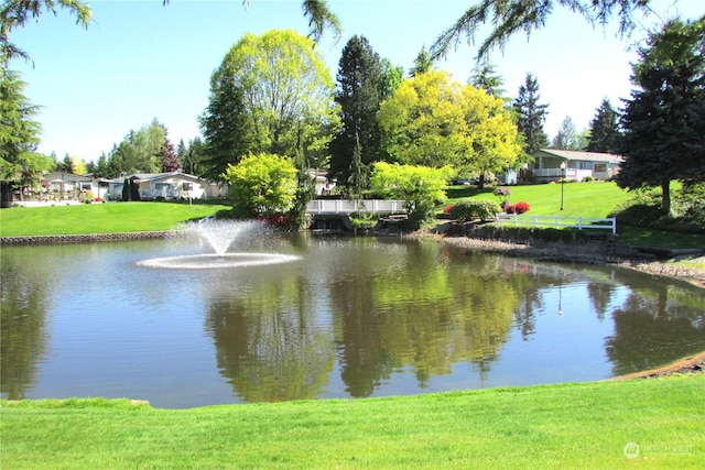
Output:
[[633,198],[617,206],[608,217],[631,227],[705,232],[705,183],[684,185],[671,196],[671,211],[661,209],[661,192],[638,192]]

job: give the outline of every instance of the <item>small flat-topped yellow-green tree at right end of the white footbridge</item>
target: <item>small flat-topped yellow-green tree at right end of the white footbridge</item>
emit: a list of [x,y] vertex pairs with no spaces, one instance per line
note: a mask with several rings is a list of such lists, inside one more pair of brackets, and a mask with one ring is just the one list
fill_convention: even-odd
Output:
[[413,228],[433,218],[436,205],[446,200],[445,188],[453,176],[449,166],[431,168],[419,165],[377,162],[370,187],[376,193],[402,199]]

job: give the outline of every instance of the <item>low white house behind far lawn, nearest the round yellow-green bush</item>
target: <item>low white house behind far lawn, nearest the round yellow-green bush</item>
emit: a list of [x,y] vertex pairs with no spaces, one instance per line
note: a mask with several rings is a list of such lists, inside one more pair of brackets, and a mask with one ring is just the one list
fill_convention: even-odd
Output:
[[228,186],[223,183],[208,182],[187,173],[135,173],[109,181],[108,199],[121,200],[122,186],[126,179],[138,185],[142,200],[164,199],[205,199],[226,197]]

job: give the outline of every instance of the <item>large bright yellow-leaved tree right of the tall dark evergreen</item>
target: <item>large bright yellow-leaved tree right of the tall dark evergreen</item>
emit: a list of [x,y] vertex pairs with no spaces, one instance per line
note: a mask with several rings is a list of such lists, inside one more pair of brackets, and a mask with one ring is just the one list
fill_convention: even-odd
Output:
[[378,118],[387,152],[404,164],[449,165],[481,178],[514,166],[521,153],[505,101],[445,72],[404,80]]

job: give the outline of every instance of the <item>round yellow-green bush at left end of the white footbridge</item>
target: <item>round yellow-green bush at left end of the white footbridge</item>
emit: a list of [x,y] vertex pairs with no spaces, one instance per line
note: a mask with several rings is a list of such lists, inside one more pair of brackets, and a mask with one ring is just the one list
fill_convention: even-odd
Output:
[[225,178],[236,203],[254,216],[282,214],[294,206],[296,166],[289,157],[250,154],[237,165],[229,165]]

